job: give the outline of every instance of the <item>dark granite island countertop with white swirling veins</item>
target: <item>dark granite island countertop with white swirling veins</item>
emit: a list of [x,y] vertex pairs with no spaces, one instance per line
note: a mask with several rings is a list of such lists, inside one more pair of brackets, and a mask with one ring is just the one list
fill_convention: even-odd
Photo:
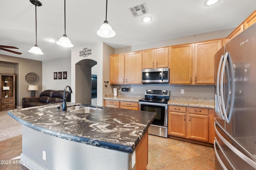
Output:
[[[67,103],[68,107],[74,105],[80,104]],[[8,114],[45,134],[127,153],[134,151],[156,116],[153,112],[108,107],[78,114],[58,111],[56,104],[14,109]]]

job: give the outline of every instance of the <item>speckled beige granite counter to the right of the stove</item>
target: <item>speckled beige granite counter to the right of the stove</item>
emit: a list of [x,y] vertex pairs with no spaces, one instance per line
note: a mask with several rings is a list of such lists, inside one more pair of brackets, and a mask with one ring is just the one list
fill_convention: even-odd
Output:
[[215,109],[214,98],[172,96],[168,105]]

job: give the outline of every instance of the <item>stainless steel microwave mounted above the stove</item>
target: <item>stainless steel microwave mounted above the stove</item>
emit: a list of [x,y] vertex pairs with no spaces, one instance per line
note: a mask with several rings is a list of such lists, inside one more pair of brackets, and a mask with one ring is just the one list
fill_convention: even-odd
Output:
[[169,83],[169,68],[142,69],[142,83]]

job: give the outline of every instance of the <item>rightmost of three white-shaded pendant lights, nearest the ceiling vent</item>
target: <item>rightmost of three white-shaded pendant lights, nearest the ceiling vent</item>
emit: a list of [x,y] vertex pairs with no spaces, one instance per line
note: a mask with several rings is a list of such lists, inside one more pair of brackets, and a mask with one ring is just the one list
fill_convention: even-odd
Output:
[[106,20],[100,26],[100,30],[97,31],[97,35],[103,38],[112,38],[116,35],[116,32],[114,32],[112,27],[108,24],[107,9],[108,9],[108,0],[106,3]]

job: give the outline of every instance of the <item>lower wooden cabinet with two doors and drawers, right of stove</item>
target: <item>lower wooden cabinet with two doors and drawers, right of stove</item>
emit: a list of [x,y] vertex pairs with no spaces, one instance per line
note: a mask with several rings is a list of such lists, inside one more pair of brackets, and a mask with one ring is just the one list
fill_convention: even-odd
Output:
[[180,106],[168,109],[168,134],[212,143],[209,120],[213,118],[209,109]]

